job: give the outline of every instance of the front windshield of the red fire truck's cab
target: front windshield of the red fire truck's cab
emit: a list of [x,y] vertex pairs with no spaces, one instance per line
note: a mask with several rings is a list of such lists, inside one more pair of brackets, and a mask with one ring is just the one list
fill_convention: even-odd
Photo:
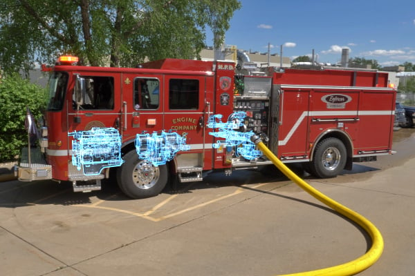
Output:
[[67,84],[68,73],[66,72],[54,72],[53,75],[50,76],[48,84],[48,110],[62,110]]

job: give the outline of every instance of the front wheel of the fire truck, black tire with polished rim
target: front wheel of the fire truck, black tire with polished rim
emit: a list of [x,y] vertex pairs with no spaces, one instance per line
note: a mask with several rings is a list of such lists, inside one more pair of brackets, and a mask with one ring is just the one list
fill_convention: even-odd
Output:
[[133,199],[154,197],[165,188],[168,180],[166,165],[153,166],[138,159],[135,150],[124,157],[124,164],[117,170],[117,182],[122,192]]

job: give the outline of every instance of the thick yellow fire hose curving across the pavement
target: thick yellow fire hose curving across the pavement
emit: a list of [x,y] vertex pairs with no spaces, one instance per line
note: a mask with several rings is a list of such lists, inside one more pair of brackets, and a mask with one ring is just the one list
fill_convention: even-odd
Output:
[[[326,206],[329,206],[336,212],[340,213],[344,217],[347,217],[351,219],[352,221],[355,221],[356,224],[361,226],[365,231],[370,235],[372,245],[371,248],[365,253],[365,255],[362,255],[361,257],[358,257],[358,259],[354,259],[351,262],[347,262],[345,264],[340,264],[338,266],[331,266],[329,268],[322,268],[319,270],[311,270],[307,272],[302,273],[294,273],[294,274],[288,274],[289,276],[293,275],[302,275],[302,276],[315,276],[315,275],[356,275],[357,273],[362,272],[363,270],[369,268],[372,264],[374,264],[382,255],[383,251],[383,238],[380,234],[378,228],[374,226],[368,219],[363,217],[362,215],[356,213],[355,211],[347,208],[346,206],[343,206],[342,204],[339,204],[337,201],[334,201],[333,199],[327,197],[326,195],[320,193],[320,191],[316,190],[310,184],[307,184],[306,181],[299,178],[293,171],[291,171],[289,168],[287,168],[282,161],[279,161],[279,159],[271,152],[265,144],[261,141],[261,139],[257,136],[252,136],[251,140],[257,144],[259,150],[264,152],[264,155],[268,157],[271,161],[273,161],[273,164],[281,170],[286,177],[291,179],[295,182],[298,186],[300,186],[303,190],[305,190],[307,193],[315,197],[316,199],[320,200],[323,204],[326,204]],[[288,276],[285,275],[285,276]]]

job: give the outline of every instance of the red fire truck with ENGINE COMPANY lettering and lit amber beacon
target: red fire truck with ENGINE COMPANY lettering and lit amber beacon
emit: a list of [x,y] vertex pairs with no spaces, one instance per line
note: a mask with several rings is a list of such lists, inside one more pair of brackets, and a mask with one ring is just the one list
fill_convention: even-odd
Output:
[[[335,177],[353,162],[392,153],[396,90],[385,72],[326,68],[267,68],[235,73],[232,61],[163,59],[138,68],[77,66],[61,57],[52,68],[46,119],[37,148],[24,148],[21,181],[72,181],[74,191],[99,190],[117,170],[129,197],[158,195],[169,179],[202,181],[205,172],[255,168],[266,157],[244,159],[237,146],[214,147],[211,115],[246,112],[243,128],[269,138],[285,163],[301,162],[316,177]],[[248,72],[248,71],[247,71]],[[118,168],[85,175],[71,163],[68,132],[115,128],[122,141]],[[165,165],[138,158],[136,135],[172,130],[190,150]],[[30,156],[30,158],[28,158]]]

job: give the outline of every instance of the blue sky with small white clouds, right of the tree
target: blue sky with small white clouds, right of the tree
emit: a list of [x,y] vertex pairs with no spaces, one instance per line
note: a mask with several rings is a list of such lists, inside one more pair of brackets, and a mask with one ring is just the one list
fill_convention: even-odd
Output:
[[[311,55],[318,61],[349,57],[376,59],[381,66],[415,63],[415,0],[240,0],[225,44],[291,59]],[[207,34],[212,46],[212,34]]]

